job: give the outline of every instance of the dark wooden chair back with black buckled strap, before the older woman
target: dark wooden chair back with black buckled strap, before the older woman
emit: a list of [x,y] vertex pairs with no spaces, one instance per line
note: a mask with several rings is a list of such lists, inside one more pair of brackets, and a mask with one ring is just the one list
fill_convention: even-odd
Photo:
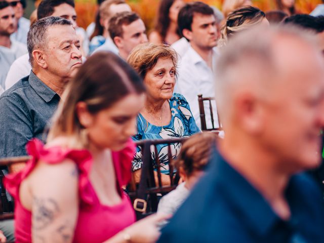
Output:
[[[128,191],[137,214],[137,219],[141,219],[151,213],[156,212],[158,197],[160,195],[167,194],[177,187],[180,176],[177,172],[174,171],[172,163],[174,159],[171,152],[171,144],[183,143],[185,139],[186,138],[142,140],[136,142],[136,145],[140,146],[142,150],[143,165],[141,168],[141,179],[139,184],[137,185],[133,177],[131,183],[128,185]],[[151,158],[152,147],[155,154],[158,154],[156,148],[156,145],[158,144],[166,144],[168,146],[168,159],[170,168],[170,185],[168,186],[162,184],[159,167],[160,161],[158,156],[155,156],[155,161],[152,161]],[[156,163],[155,171],[157,174],[157,179],[154,176],[154,163]]]

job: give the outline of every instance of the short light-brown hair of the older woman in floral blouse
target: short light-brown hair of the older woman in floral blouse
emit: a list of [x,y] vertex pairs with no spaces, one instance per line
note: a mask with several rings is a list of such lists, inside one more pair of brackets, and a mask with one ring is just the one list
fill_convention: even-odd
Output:
[[177,70],[178,57],[176,51],[172,47],[163,44],[144,43],[138,45],[129,55],[127,62],[144,79],[147,71],[156,65],[159,58],[171,58]]

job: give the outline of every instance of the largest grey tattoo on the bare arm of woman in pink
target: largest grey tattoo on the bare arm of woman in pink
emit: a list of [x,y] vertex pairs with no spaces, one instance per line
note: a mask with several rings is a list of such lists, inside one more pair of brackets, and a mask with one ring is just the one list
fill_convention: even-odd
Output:
[[45,229],[60,212],[57,202],[53,198],[33,198],[32,227],[35,230]]

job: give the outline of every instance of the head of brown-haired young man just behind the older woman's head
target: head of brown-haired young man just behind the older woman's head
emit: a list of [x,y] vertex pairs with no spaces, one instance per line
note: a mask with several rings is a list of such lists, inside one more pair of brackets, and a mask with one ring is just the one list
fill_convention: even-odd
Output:
[[125,60],[137,45],[147,42],[144,22],[134,12],[122,12],[114,15],[109,20],[108,31],[118,48],[120,57]]

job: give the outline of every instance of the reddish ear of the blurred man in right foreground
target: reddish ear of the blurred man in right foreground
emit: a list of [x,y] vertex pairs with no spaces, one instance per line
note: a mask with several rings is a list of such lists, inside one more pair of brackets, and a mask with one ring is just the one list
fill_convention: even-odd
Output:
[[257,97],[252,94],[241,94],[235,99],[236,121],[247,133],[259,134],[263,130],[264,110]]

